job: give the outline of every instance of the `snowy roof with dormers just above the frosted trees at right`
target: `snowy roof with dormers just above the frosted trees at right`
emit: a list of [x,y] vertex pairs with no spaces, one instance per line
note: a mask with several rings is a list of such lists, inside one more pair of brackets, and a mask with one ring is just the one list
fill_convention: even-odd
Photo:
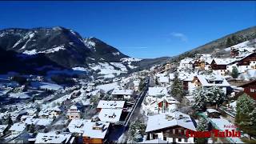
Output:
[[[230,86],[229,82],[226,81],[226,78],[221,75],[197,75],[198,80],[201,82],[202,86]],[[214,81],[210,83],[210,81]],[[221,81],[220,83],[215,83]]]

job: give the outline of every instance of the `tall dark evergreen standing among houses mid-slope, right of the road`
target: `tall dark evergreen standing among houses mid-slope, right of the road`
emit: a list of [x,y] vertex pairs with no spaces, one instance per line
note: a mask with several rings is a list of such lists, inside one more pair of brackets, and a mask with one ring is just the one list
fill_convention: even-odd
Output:
[[170,94],[172,94],[174,98],[177,98],[178,101],[181,101],[182,97],[184,96],[183,83],[178,78],[178,72],[174,73],[174,81],[172,82],[170,88]]

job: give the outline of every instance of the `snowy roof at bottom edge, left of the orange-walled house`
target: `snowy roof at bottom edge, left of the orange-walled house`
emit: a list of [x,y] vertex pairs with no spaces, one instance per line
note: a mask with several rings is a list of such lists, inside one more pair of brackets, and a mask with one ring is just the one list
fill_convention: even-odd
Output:
[[67,143],[71,134],[56,134],[55,132],[38,133],[34,143]]

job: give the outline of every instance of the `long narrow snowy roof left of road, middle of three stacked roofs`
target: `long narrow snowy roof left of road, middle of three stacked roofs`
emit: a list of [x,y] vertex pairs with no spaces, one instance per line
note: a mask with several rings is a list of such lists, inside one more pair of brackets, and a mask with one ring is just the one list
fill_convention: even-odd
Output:
[[104,101],[104,100],[100,100],[98,102],[97,108],[116,109],[116,108],[123,108],[124,105],[125,105],[125,101]]

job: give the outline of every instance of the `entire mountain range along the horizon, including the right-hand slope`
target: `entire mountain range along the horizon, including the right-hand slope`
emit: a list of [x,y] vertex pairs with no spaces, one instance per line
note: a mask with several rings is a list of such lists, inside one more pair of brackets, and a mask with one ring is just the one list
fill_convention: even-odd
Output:
[[[256,26],[226,35],[175,57],[130,58],[98,38],[82,38],[78,32],[61,26],[52,28],[0,30],[0,72],[42,73],[48,70],[82,67],[98,71],[102,68],[129,73],[166,62],[178,62],[197,53],[213,54],[229,45],[256,38]],[[42,69],[43,67],[43,69]],[[122,71],[124,70],[124,71]]]

